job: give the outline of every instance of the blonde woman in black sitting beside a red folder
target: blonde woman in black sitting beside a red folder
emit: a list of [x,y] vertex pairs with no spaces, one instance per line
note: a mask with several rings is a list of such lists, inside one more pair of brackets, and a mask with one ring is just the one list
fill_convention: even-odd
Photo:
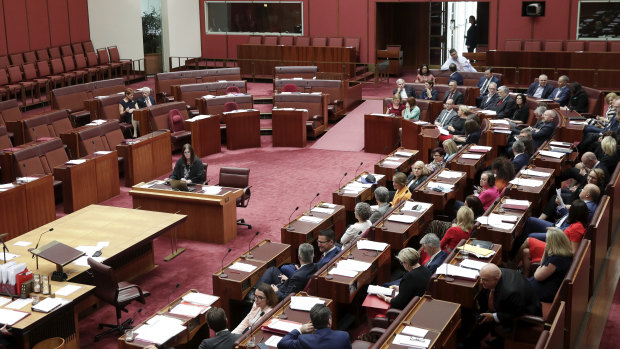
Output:
[[424,295],[426,285],[432,274],[426,267],[420,265],[420,254],[411,247],[400,250],[396,258],[406,271],[400,281],[400,286],[392,286],[398,291],[398,295],[396,297],[384,295],[378,297],[389,303],[392,309],[403,309],[413,297]]

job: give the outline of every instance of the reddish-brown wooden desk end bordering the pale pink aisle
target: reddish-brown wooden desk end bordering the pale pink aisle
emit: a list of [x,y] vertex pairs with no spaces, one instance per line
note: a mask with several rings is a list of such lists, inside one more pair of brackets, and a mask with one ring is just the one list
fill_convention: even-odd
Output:
[[398,147],[403,118],[388,114],[364,115],[364,151],[367,153],[389,154]]

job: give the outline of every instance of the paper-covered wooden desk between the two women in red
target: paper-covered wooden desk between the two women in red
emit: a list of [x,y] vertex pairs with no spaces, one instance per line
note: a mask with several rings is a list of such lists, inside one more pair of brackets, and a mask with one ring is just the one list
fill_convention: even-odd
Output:
[[[491,209],[491,213],[500,216],[516,216],[517,221],[511,229],[503,229],[491,226],[490,224],[480,224],[476,238],[479,240],[491,241],[502,246],[502,250],[511,251],[512,243],[515,238],[523,232],[525,222],[532,215],[531,205],[525,211],[504,208],[504,203],[509,197],[502,197]],[[485,215],[486,216],[486,215]],[[504,254],[504,258],[509,258],[509,254]]]

